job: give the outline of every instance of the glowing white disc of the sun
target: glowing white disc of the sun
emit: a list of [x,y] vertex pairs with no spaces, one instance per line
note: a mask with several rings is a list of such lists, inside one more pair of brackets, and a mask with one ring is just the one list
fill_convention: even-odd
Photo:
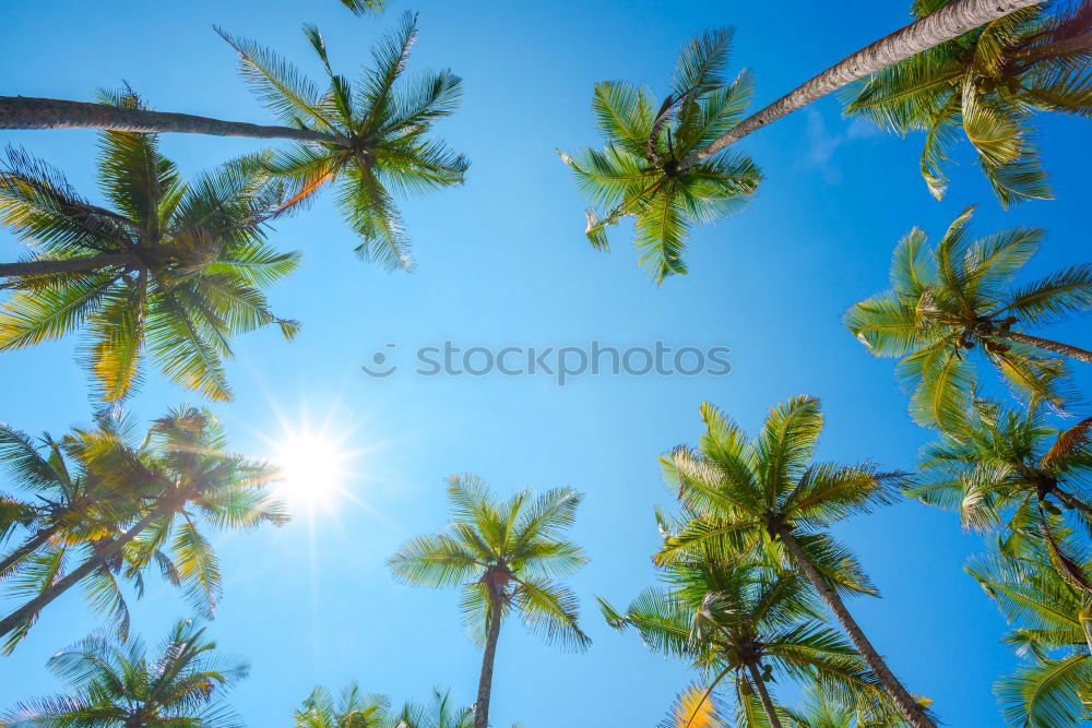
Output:
[[323,433],[290,432],[273,462],[281,468],[280,493],[305,504],[330,504],[344,490],[351,454]]

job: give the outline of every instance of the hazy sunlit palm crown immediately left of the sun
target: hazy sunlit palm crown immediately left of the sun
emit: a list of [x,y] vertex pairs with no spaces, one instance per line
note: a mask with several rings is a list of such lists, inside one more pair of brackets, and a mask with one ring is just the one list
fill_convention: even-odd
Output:
[[[181,407],[156,420],[142,440],[132,441],[123,425],[78,431],[75,452],[88,478],[103,479],[122,496],[120,505],[96,504],[95,520],[74,535],[51,541],[20,564],[4,590],[23,600],[48,593],[70,563],[97,556],[138,517],[147,525],[120,552],[83,581],[85,597],[97,611],[108,613],[124,635],[129,611],[119,577],[143,594],[146,571],[157,570],[185,588],[199,609],[211,616],[221,595],[221,571],[215,550],[201,524],[214,528],[247,529],[288,520],[283,504],[268,492],[278,477],[273,465],[235,454],[216,418],[207,410]],[[81,449],[82,446],[82,449]],[[26,635],[36,616],[13,630],[4,644],[10,652]]]

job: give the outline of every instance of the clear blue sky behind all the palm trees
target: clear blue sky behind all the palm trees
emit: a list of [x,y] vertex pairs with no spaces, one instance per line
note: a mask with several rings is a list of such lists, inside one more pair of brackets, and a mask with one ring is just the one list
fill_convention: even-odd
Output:
[[[355,453],[344,484],[351,497],[324,508],[297,503],[296,520],[278,530],[216,538],[225,597],[210,631],[224,651],[253,664],[233,694],[249,725],[286,725],[314,684],[353,679],[395,701],[439,684],[473,702],[479,653],[464,635],[456,593],[396,585],[383,563],[405,539],[442,526],[449,474],[475,473],[500,492],[565,485],[585,493],[572,536],[591,563],[572,586],[594,644],[563,654],[515,622],[501,635],[494,723],[538,728],[654,725],[691,679],[685,665],[607,628],[593,597],[624,605],[654,582],[652,509],[670,503],[656,457],[697,440],[702,401],[753,431],[770,406],[817,395],[828,418],[821,458],[913,467],[928,433],[906,416],[892,361],[870,357],[841,326],[841,313],[886,287],[901,235],[917,225],[935,237],[969,204],[980,205],[983,234],[1047,229],[1029,275],[1081,262],[1087,127],[1041,120],[1057,199],[1004,212],[965,148],[947,199],[936,202],[917,171],[921,139],[844,122],[836,100],[823,99],[740,144],[767,177],[757,199],[740,216],[696,229],[691,274],[661,287],[637,267],[625,226],[612,230],[610,254],[586,244],[584,202],[554,153],[598,143],[589,110],[596,81],[648,82],[662,95],[676,51],[695,32],[736,27],[733,67],[755,71],[763,104],[903,25],[902,5],[853,0],[835,12],[806,0],[395,0],[376,20],[356,19],[335,0],[4,3],[5,94],[88,99],[126,80],[161,110],[269,121],[212,23],[278,48],[316,75],[299,25],[317,23],[335,67],[353,74],[407,7],[420,11],[411,69],[450,67],[464,77],[462,109],[439,129],[473,160],[467,183],[402,206],[418,270],[388,274],[357,261],[353,236],[323,198],[272,237],[306,253],[298,273],[271,293],[277,312],[302,321],[302,333],[290,345],[272,331],[240,337],[228,366],[236,399],[215,410],[239,451],[271,455],[288,432],[324,427]],[[96,198],[93,133],[12,131],[0,142],[54,163]],[[164,140],[188,174],[260,146]],[[0,231],[2,259],[17,252]],[[1081,321],[1051,330],[1078,345],[1090,333]],[[563,387],[548,377],[423,378],[404,368],[371,379],[360,370],[388,343],[407,363],[413,349],[447,339],[726,346],[733,370],[583,377]],[[31,432],[86,422],[93,403],[75,344],[0,357],[0,419]],[[1089,383],[1085,372],[1078,383]],[[151,373],[131,407],[146,419],[198,401]],[[850,606],[894,671],[931,697],[948,725],[999,725],[990,685],[1017,660],[999,644],[999,613],[962,571],[976,539],[961,534],[953,514],[914,504],[839,532],[882,592]],[[181,595],[159,583],[132,607],[150,640],[187,614]],[[46,659],[97,623],[78,594],[50,606],[0,661],[0,706],[56,690]],[[792,699],[787,685],[778,689]]]

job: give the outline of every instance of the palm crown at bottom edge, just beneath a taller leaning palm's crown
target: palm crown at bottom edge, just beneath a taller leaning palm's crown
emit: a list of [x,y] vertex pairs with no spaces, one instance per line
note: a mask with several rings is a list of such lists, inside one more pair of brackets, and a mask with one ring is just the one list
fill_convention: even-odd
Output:
[[[601,599],[603,613],[616,629],[636,628],[651,649],[689,659],[708,679],[705,696],[729,678],[738,725],[755,725],[760,711],[770,726],[782,728],[765,684],[775,673],[820,680],[863,709],[882,697],[860,656],[824,625],[796,574],[707,556],[676,562],[665,577],[667,589],[644,592],[625,613]],[[685,728],[707,709],[704,700],[692,702]]]

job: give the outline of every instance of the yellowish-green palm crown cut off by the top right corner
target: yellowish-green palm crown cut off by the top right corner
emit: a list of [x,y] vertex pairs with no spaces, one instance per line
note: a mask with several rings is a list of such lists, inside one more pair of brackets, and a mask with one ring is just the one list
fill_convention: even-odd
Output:
[[[924,17],[948,0],[916,0]],[[1032,140],[1036,111],[1092,114],[1092,2],[1031,5],[889,65],[847,96],[845,114],[925,132],[922,176],[938,200],[962,132],[1001,205],[1051,196]],[[1053,11],[1053,12],[1052,12]]]

